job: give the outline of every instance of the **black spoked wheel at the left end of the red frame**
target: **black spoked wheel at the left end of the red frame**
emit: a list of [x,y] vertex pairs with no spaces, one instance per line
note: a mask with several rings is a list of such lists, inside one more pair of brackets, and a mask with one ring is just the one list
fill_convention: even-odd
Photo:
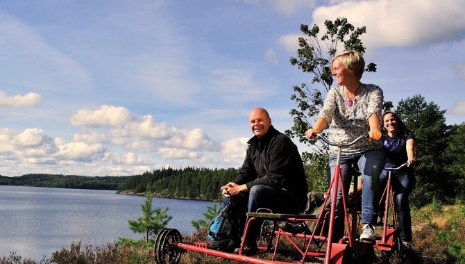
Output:
[[176,247],[176,242],[182,241],[177,229],[162,229],[155,241],[155,261],[158,264],[178,264],[182,251]]

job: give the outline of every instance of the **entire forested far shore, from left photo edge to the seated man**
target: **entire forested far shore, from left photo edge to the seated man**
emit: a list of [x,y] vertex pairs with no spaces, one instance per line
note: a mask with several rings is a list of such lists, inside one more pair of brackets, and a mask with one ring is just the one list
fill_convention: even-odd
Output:
[[147,194],[183,199],[221,199],[219,188],[232,181],[238,169],[171,167],[144,172],[135,176],[78,176],[26,174],[0,176],[0,185],[21,185],[50,188],[118,190],[123,193]]

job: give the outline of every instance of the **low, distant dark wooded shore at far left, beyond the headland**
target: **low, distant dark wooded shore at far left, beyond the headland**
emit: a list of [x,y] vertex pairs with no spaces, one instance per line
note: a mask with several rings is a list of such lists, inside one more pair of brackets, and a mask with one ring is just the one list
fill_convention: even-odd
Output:
[[0,176],[0,185],[21,185],[51,188],[118,190],[130,176],[78,176],[61,174],[26,174]]

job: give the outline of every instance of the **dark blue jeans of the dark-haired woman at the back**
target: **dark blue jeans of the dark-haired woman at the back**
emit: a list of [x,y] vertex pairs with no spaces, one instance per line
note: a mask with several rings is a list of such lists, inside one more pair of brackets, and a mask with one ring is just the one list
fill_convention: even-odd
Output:
[[[386,188],[388,179],[387,170],[380,175],[381,190]],[[403,241],[412,242],[412,219],[410,217],[409,195],[415,188],[416,179],[413,173],[391,173],[391,186],[394,191],[394,204],[396,204],[399,237]]]

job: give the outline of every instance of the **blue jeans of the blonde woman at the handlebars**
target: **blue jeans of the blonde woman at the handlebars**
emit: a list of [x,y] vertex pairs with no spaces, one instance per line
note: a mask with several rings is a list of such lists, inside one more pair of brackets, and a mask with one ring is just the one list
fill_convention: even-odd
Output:
[[[328,166],[328,178],[335,175],[337,155],[330,154]],[[376,224],[378,220],[378,202],[380,201],[380,173],[384,168],[386,157],[381,149],[373,149],[359,154],[341,156],[341,176],[344,183],[344,192],[348,197],[348,190],[356,164],[362,174],[362,222]],[[332,179],[332,178],[331,178]],[[332,192],[332,190],[331,190]],[[331,193],[331,195],[333,195]],[[335,214],[335,240],[344,236],[344,204],[342,202],[342,190],[339,184],[337,191],[336,214]]]

